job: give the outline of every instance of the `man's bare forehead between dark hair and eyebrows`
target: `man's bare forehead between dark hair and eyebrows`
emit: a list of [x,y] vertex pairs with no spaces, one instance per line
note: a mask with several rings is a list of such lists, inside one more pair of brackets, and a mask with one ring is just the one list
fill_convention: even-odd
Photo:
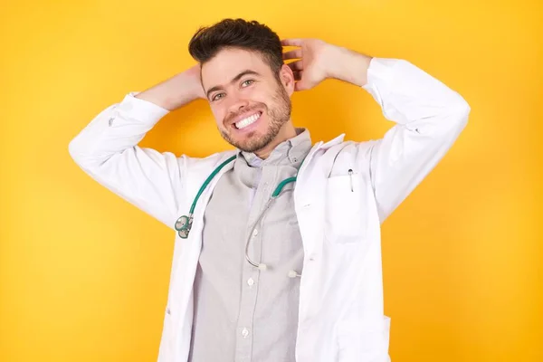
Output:
[[218,85],[227,85],[233,77],[247,70],[271,75],[270,66],[263,61],[259,53],[236,48],[223,49],[202,65],[202,84],[205,90]]

